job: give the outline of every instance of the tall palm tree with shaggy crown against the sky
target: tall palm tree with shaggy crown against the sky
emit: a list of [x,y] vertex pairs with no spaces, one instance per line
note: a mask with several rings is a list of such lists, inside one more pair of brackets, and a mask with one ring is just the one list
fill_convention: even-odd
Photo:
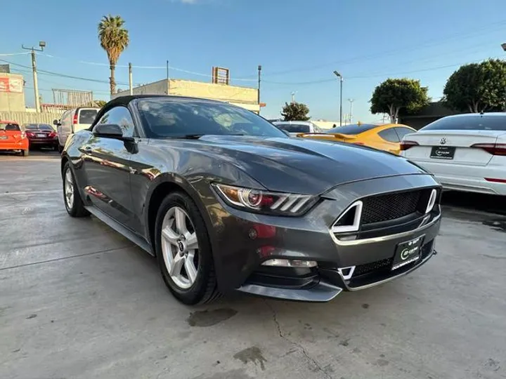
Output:
[[128,30],[123,25],[124,20],[119,15],[103,16],[102,20],[98,23],[100,46],[102,46],[109,58],[111,95],[116,93],[115,69],[117,60],[130,42]]

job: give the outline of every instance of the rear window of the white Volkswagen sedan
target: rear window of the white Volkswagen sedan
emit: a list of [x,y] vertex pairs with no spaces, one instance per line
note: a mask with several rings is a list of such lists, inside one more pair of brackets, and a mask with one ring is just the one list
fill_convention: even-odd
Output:
[[506,131],[505,116],[445,117],[421,128],[420,131]]

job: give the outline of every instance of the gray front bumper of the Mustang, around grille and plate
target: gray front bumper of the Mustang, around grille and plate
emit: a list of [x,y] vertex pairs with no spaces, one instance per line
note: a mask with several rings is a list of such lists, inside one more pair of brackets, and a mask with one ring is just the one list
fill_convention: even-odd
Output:
[[[342,291],[358,291],[406,275],[434,255],[441,222],[439,205],[423,224],[408,229],[395,227],[396,232],[365,239],[337,239],[330,226],[356,199],[429,187],[439,187],[432,175],[353,182],[327,192],[300,218],[247,213],[219,199],[219,204],[208,207],[214,224],[211,240],[219,288],[271,298],[328,301]],[[392,271],[396,246],[417,237],[423,238],[420,259]],[[318,267],[261,265],[273,258],[313,260]],[[346,267],[354,267],[351,277],[342,271]]]

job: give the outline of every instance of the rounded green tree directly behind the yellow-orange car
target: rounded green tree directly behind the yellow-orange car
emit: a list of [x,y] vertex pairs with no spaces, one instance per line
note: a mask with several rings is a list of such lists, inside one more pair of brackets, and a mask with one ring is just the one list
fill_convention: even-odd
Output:
[[427,87],[420,86],[415,79],[387,79],[375,88],[370,100],[372,114],[387,113],[390,122],[396,122],[401,109],[417,112],[429,104]]

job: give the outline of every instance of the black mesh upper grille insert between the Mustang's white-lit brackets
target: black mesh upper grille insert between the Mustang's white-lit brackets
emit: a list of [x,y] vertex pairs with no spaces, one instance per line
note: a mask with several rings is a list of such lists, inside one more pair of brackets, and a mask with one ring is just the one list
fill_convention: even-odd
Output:
[[415,213],[421,191],[383,194],[363,199],[362,224],[395,220]]

